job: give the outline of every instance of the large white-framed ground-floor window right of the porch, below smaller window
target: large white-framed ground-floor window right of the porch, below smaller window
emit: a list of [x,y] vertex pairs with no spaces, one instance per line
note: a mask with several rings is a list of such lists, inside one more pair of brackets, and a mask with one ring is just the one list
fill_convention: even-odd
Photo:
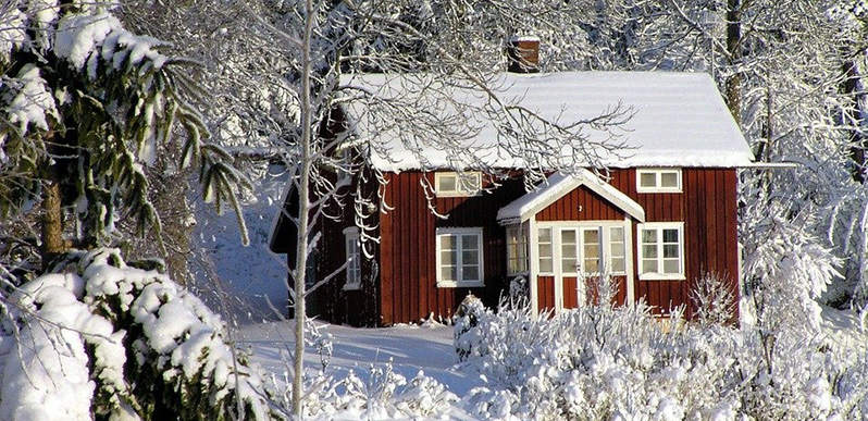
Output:
[[640,224],[638,233],[638,277],[684,280],[684,223]]

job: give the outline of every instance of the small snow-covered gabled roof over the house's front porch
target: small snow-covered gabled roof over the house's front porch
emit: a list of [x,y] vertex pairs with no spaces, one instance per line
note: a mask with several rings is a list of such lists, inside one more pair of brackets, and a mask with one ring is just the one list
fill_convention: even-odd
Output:
[[582,185],[602,196],[618,209],[627,212],[627,214],[633,216],[638,222],[645,222],[645,209],[643,209],[641,205],[587,170],[582,170],[572,175],[561,173],[551,174],[545,186],[540,186],[537,189],[500,208],[500,210],[497,211],[497,222],[500,225],[524,222]]

